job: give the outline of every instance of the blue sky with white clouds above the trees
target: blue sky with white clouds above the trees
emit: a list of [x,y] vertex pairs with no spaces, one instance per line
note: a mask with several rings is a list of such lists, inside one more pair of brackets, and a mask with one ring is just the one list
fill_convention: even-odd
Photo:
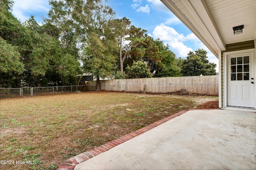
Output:
[[[109,0],[109,5],[117,18],[126,17],[132,25],[147,30],[151,37],[167,43],[177,57],[186,58],[189,51],[205,49],[218,72],[218,59],[160,0]],[[14,0],[12,13],[21,22],[34,15],[42,24],[42,16],[47,18],[49,9],[48,0]]]

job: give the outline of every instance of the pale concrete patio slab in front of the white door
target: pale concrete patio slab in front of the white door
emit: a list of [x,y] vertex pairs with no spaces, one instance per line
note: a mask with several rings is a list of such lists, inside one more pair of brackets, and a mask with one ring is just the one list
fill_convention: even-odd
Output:
[[[70,165],[74,170],[256,170],[256,113],[190,110],[103,153],[94,152],[76,156]],[[67,164],[59,169],[68,169]]]

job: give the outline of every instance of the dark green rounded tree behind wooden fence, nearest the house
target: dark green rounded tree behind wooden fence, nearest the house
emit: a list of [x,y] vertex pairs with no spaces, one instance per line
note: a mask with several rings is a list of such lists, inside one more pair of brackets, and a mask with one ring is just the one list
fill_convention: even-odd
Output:
[[216,64],[210,63],[204,49],[190,51],[181,67],[183,76],[216,75]]

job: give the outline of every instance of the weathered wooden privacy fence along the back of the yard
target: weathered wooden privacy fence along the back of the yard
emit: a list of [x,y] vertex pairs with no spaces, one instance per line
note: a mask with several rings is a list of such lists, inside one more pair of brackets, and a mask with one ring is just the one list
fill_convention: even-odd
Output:
[[[96,81],[88,81],[86,85],[87,91],[96,90]],[[218,75],[101,80],[100,87],[102,91],[218,96]]]

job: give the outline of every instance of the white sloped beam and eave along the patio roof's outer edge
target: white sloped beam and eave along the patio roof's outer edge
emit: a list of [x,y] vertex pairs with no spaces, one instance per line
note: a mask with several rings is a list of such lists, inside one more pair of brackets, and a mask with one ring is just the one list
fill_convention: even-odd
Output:
[[180,0],[180,6],[171,0],[161,1],[216,57],[219,51],[225,50],[225,44],[204,0],[192,0],[193,4],[190,0]]

